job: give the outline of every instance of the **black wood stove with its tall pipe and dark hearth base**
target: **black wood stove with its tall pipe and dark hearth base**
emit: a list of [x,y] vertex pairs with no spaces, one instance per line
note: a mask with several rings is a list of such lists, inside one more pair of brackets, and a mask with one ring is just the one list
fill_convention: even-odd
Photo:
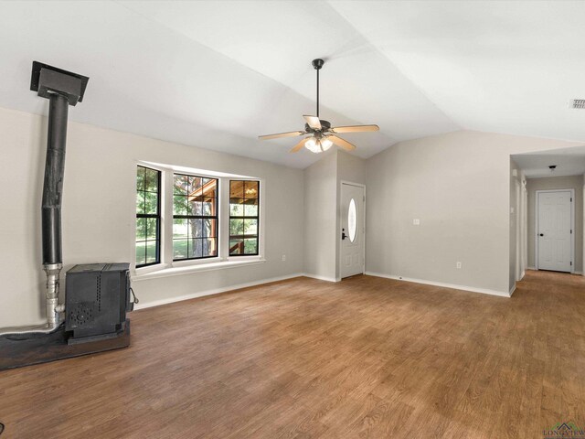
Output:
[[[0,328],[0,370],[130,345],[128,263],[76,265],[67,273],[66,304],[58,303],[61,202],[69,106],[83,101],[89,78],[34,61],[30,90],[49,101],[47,158],[41,205],[47,324]],[[65,321],[64,321],[65,320]]]

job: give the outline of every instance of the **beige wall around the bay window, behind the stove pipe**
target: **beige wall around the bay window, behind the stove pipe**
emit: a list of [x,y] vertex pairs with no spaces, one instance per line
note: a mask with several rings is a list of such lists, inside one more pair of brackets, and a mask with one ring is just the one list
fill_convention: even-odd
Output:
[[[0,133],[0,327],[35,324],[44,318],[40,201],[47,120],[0,109]],[[81,123],[69,123],[68,132],[66,270],[76,263],[131,260],[137,160],[261,177],[266,196],[267,262],[135,282],[141,305],[303,272],[302,170]]]

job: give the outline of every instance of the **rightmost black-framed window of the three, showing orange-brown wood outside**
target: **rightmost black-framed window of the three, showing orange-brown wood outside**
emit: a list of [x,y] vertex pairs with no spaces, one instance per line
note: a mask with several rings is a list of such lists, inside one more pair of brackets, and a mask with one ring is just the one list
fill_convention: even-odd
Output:
[[229,181],[229,256],[258,254],[259,200],[259,181]]

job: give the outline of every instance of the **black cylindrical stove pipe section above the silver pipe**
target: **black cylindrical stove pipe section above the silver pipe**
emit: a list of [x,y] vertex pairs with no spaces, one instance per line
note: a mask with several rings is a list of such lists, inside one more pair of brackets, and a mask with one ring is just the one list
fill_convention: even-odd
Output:
[[69,102],[52,93],[48,107],[47,160],[42,204],[43,265],[63,262],[61,252],[61,201],[65,172],[65,145]]

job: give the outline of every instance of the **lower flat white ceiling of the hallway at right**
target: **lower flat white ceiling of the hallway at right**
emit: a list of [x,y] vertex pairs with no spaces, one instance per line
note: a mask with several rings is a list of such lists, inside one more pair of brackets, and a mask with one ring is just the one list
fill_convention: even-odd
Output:
[[[512,155],[527,178],[585,175],[585,146]],[[557,166],[550,171],[548,166]]]

